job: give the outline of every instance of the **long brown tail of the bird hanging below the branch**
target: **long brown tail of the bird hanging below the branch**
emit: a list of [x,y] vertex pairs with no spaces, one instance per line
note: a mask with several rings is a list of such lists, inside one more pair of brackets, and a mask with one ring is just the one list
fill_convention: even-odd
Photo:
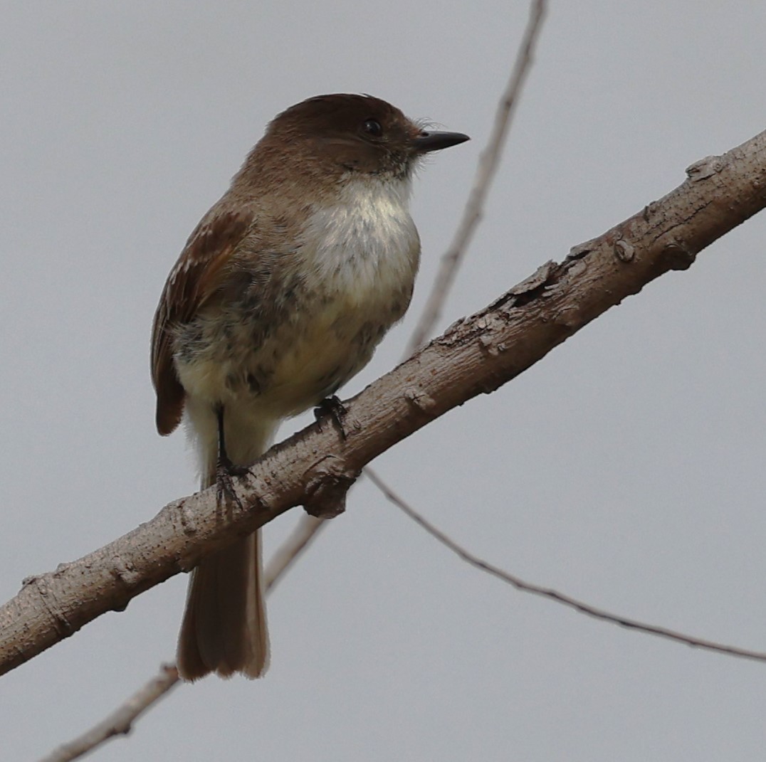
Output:
[[[203,488],[215,476],[203,479]],[[196,680],[209,672],[260,677],[269,666],[260,530],[199,564],[189,580],[178,635],[178,674]]]

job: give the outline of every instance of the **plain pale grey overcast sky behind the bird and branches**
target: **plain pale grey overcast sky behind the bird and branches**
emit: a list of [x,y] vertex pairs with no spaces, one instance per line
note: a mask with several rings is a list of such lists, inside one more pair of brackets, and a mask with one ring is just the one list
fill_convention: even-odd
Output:
[[[443,329],[766,124],[766,4],[552,2]],[[265,123],[365,92],[468,132],[414,195],[413,306],[470,189],[526,2],[6,2],[0,598],[195,489],[154,428],[170,267]],[[375,467],[467,548],[597,606],[766,650],[766,216]],[[303,424],[291,421],[283,433]],[[298,511],[267,528],[277,545]],[[35,760],[172,659],[185,575],[0,680]],[[182,686],[100,760],[754,760],[766,665],[621,630],[453,557],[369,483],[269,601],[266,679]]]

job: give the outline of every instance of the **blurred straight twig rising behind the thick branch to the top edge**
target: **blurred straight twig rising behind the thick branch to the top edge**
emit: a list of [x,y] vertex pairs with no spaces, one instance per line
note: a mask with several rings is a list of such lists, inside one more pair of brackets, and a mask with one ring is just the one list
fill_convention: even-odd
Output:
[[405,358],[417,352],[425,344],[431,332],[433,332],[434,325],[436,325],[437,320],[441,316],[444,302],[450,293],[450,288],[455,280],[466,248],[473,233],[476,231],[476,226],[481,221],[484,202],[500,163],[500,155],[508,136],[513,114],[519,103],[519,95],[524,80],[527,74],[529,74],[529,69],[532,67],[532,54],[542,29],[545,11],[545,0],[534,0],[532,2],[529,9],[527,28],[525,29],[522,43],[519,46],[519,52],[516,54],[516,62],[513,64],[511,77],[497,106],[492,134],[489,136],[486,148],[479,158],[479,165],[476,167],[473,187],[471,188],[468,201],[466,201],[463,217],[460,220],[457,231],[455,231],[450,247],[441,258],[439,272],[434,280],[434,285],[431,286],[421,319],[412,332],[407,352],[404,354]]

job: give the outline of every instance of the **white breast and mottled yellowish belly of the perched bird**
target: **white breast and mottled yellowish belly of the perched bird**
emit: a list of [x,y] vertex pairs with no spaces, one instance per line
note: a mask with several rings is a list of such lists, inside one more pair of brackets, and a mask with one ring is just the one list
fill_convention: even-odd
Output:
[[249,302],[235,300],[223,315],[197,322],[201,351],[176,355],[187,391],[286,417],[367,364],[408,307],[420,241],[408,211],[409,181],[372,176],[343,188],[337,203],[315,205],[289,263],[271,273],[272,295],[281,280],[300,280],[290,309],[267,318],[264,295],[253,289]]

